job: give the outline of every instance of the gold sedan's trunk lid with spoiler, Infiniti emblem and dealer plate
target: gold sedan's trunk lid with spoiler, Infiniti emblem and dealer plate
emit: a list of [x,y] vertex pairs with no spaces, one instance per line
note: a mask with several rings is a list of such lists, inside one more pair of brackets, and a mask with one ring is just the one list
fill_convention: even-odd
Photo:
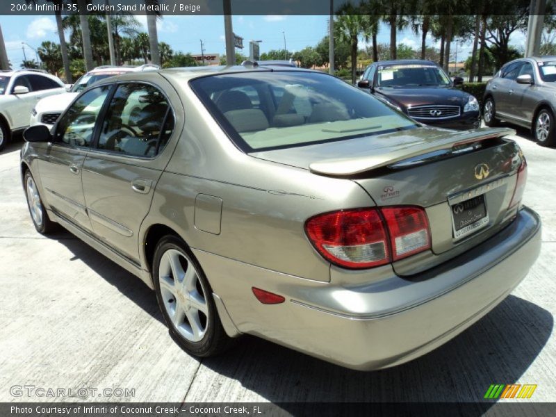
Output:
[[408,276],[465,252],[515,217],[509,204],[523,155],[503,138],[514,133],[425,127],[252,156],[350,179],[377,206],[424,207],[432,250],[393,263]]

